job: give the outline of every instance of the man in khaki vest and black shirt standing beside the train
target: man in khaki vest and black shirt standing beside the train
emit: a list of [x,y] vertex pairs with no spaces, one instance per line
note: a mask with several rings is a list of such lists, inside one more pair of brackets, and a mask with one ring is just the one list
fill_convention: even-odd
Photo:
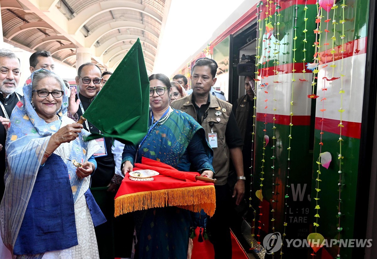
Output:
[[[245,193],[245,176],[241,147],[244,144],[232,112],[232,105],[210,94],[216,83],[218,66],[210,58],[196,60],[191,75],[193,94],[172,103],[174,109],[193,116],[205,130],[213,149],[213,168],[218,180],[216,211],[208,218],[207,231],[215,249],[215,259],[231,259],[230,209],[231,197],[238,205]],[[238,181],[233,196],[227,185],[230,158],[234,164]]]

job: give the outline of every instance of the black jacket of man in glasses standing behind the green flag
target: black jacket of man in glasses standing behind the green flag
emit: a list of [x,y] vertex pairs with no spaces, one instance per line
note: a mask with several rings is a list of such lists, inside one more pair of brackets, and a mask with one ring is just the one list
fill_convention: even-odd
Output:
[[[80,95],[80,101],[81,104],[83,104],[84,111],[89,107],[89,104],[93,101],[94,98],[89,99],[84,97],[81,93],[78,93]],[[76,100],[77,100],[76,95]],[[80,117],[83,115],[83,112],[81,111],[81,107],[78,108],[77,114]],[[93,133],[99,133],[100,131],[88,121],[89,125],[89,131]],[[88,130],[86,128],[86,123],[83,123],[84,129]],[[111,179],[114,176],[115,173],[115,161],[113,154],[111,152],[111,146],[112,146],[112,138],[105,138],[105,145],[106,145],[106,156],[100,156],[95,158],[97,162],[97,169],[95,170],[94,174],[92,175],[91,181],[92,185],[90,187],[104,187],[107,186]]]

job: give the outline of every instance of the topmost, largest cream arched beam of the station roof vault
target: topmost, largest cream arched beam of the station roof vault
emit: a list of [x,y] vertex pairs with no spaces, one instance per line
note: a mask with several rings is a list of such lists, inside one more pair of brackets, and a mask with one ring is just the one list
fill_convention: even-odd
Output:
[[131,2],[129,0],[110,0],[110,1],[101,1],[90,5],[88,8],[85,8],[84,11],[81,11],[77,16],[68,21],[69,34],[76,34],[80,29],[93,17],[101,14],[103,12],[116,10],[116,9],[129,9],[134,11],[139,11],[144,14],[149,15],[154,18],[160,24],[162,24],[162,17],[157,12],[148,8],[145,5],[141,5],[136,2]]

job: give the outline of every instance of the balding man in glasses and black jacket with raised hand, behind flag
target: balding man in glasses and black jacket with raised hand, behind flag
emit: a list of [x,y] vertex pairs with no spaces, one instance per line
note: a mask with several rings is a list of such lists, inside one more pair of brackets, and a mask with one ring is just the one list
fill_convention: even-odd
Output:
[[[80,118],[80,116],[83,115],[98,92],[100,92],[103,83],[101,75],[100,67],[93,63],[85,63],[78,68],[75,80],[79,92],[76,94],[76,90],[72,88],[68,105],[68,110],[75,115],[76,118]],[[90,121],[85,121],[83,127],[89,132],[101,134]],[[105,215],[107,222],[94,229],[100,258],[114,258],[113,231],[115,229],[113,230],[113,219],[116,188],[111,182],[115,173],[115,161],[111,150],[112,139],[99,138],[97,139],[97,143],[102,148],[94,154],[98,166],[92,175],[90,189],[101,211]]]

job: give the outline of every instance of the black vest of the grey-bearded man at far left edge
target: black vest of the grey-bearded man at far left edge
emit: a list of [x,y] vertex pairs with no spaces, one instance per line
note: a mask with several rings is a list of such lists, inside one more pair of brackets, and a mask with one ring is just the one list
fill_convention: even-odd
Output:
[[[20,95],[18,95],[20,97]],[[0,101],[2,102],[6,113],[9,118],[11,117],[12,110],[14,106],[18,103],[17,93],[12,93],[7,98],[4,98],[3,93],[0,92]],[[6,118],[3,109],[0,109],[0,116]],[[5,185],[4,185],[4,173],[5,173],[5,139],[6,139],[6,130],[2,124],[0,124],[0,144],[3,145],[3,150],[0,151],[0,195],[3,197]]]

